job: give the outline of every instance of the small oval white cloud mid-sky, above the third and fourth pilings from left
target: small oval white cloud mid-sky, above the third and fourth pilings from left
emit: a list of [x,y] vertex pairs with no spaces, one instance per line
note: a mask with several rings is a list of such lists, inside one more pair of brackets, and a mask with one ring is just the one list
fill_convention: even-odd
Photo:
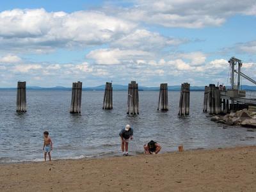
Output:
[[152,56],[150,52],[120,49],[97,49],[89,52],[86,58],[93,59],[99,65],[118,65],[131,60],[143,60]]

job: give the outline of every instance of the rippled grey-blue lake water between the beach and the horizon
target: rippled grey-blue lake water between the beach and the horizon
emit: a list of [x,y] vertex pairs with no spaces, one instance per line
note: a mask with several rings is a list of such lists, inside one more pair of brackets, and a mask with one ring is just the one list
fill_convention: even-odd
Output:
[[43,132],[54,143],[52,159],[121,154],[120,129],[134,128],[130,154],[143,152],[150,140],[161,152],[184,149],[255,145],[256,132],[210,121],[202,113],[204,92],[191,92],[190,115],[180,118],[179,92],[168,92],[169,111],[157,111],[159,92],[140,92],[140,115],[129,116],[127,92],[113,92],[113,110],[102,110],[104,92],[83,92],[81,115],[69,113],[71,91],[27,90],[27,113],[16,113],[16,90],[0,90],[0,163],[43,160]]

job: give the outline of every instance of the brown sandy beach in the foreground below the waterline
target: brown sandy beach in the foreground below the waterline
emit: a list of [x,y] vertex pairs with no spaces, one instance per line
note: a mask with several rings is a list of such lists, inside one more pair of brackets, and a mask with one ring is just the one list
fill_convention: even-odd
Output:
[[0,191],[256,191],[256,147],[0,164]]

